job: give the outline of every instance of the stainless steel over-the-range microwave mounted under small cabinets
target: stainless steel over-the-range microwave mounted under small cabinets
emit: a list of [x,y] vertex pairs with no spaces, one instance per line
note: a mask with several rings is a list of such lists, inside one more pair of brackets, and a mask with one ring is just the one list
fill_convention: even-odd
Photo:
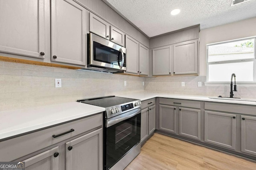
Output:
[[87,69],[120,72],[126,69],[126,48],[95,34],[88,34]]

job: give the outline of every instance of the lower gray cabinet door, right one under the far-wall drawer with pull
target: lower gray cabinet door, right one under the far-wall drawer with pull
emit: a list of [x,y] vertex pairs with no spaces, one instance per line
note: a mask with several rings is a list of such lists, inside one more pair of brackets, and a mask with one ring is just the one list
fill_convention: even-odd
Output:
[[201,139],[201,111],[198,109],[180,108],[179,134],[189,138]]

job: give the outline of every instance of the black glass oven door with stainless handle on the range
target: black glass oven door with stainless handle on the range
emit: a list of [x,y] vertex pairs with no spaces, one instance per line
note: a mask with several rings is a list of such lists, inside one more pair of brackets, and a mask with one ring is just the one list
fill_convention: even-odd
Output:
[[104,168],[106,170],[140,142],[141,109],[134,109],[118,116],[116,116],[117,119],[113,117],[106,120],[104,142]]

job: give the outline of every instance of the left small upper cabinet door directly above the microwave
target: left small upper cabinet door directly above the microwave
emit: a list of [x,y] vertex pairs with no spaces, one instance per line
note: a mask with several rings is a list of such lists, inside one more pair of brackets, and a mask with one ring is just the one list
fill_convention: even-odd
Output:
[[109,40],[109,27],[110,24],[104,21],[102,18],[96,16],[92,12],[90,12],[90,32],[97,34],[103,38]]

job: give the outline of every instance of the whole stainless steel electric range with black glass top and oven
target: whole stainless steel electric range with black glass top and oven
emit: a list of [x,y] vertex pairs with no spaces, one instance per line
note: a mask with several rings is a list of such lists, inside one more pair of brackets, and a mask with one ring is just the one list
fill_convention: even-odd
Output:
[[105,107],[104,112],[104,170],[124,169],[140,153],[141,101],[107,96],[78,100]]

